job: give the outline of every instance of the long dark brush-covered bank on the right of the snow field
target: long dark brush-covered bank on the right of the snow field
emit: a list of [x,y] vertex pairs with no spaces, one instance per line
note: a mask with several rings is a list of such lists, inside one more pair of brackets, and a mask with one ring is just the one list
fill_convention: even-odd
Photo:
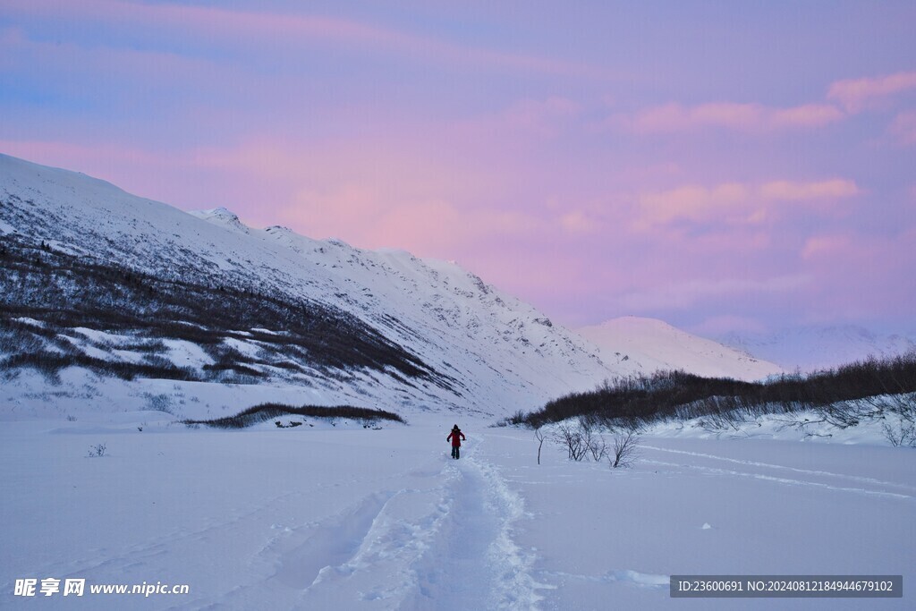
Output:
[[[881,417],[885,410],[912,421],[916,405],[916,353],[868,359],[808,376],[783,375],[765,382],[694,376],[667,371],[606,381],[591,392],[573,393],[510,421],[534,428],[570,418],[638,428],[660,420],[756,417],[813,409],[845,427]],[[873,400],[891,396],[883,403]]]

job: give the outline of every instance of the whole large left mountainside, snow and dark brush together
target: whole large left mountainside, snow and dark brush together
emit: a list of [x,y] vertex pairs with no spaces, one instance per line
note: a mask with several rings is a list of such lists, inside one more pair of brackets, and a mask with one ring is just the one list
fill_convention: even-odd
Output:
[[[192,215],[6,156],[0,232],[7,259],[15,259],[3,305],[27,325],[22,333],[56,343],[46,352],[186,367],[197,382],[247,376],[303,388],[303,398],[322,404],[488,413],[533,409],[620,373],[594,346],[453,263],[359,250],[279,226],[254,229],[224,209]],[[43,286],[49,282],[56,286]],[[203,302],[209,309],[200,310]],[[49,327],[62,310],[68,322]],[[245,312],[247,327],[229,326],[232,310]],[[108,320],[112,312],[129,321]],[[168,329],[162,318],[174,319]],[[189,324],[203,336],[175,330]],[[285,333],[295,335],[295,350]],[[23,376],[20,392],[5,389],[21,413],[33,382]],[[85,383],[72,381],[74,392]],[[192,408],[180,411],[206,415]]]

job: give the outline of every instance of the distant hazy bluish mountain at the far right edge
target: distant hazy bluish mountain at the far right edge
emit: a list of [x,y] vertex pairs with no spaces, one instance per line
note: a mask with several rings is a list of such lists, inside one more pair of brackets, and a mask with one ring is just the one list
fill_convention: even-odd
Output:
[[916,333],[873,333],[856,325],[809,326],[773,333],[730,333],[719,338],[737,350],[802,372],[916,350]]

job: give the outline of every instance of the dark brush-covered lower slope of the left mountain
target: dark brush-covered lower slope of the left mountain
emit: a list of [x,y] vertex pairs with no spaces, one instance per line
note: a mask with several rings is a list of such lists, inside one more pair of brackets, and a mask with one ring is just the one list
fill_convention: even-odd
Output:
[[[43,326],[17,322],[20,317]],[[133,345],[93,347],[140,351],[143,362],[85,355],[61,337],[85,341],[75,331],[79,327],[126,336]],[[241,354],[224,344],[227,338],[256,343],[260,351]],[[158,355],[166,348],[163,339],[198,344],[213,364],[202,370],[175,366]],[[267,294],[226,277],[203,281],[180,270],[168,278],[152,276],[53,250],[21,235],[0,235],[0,353],[11,355],[0,368],[34,367],[50,376],[67,366],[84,366],[126,379],[256,382],[272,370],[340,377],[367,368],[407,384],[411,378],[447,384],[416,355],[327,304]]]

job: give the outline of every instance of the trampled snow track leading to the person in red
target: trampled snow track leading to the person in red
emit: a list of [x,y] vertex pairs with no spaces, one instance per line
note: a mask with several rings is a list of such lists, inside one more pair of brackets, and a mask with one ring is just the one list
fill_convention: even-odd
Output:
[[[301,606],[328,608],[355,595],[360,606],[380,609],[537,608],[533,559],[512,540],[521,498],[477,458],[478,444],[468,443],[460,461],[443,456],[439,472],[416,472],[438,485],[398,490],[381,504],[366,499],[340,524],[319,529],[319,540],[287,554],[291,562],[278,573],[287,580],[314,574],[322,546],[321,557],[341,561],[318,571]],[[335,554],[344,549],[352,553]]]

